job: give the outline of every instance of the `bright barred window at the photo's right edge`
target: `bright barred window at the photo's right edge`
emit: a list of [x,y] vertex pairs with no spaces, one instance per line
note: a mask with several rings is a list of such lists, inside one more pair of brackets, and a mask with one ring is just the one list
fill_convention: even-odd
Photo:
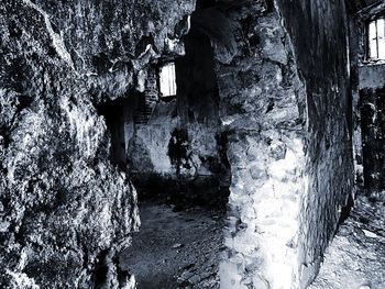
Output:
[[385,20],[383,18],[369,24],[369,57],[385,59]]

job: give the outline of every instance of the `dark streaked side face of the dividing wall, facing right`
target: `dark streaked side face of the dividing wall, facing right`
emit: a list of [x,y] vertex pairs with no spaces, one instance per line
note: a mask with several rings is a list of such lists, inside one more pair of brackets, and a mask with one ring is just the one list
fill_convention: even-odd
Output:
[[307,91],[308,191],[299,235],[304,286],[314,277],[353,192],[348,21],[344,1],[278,2]]

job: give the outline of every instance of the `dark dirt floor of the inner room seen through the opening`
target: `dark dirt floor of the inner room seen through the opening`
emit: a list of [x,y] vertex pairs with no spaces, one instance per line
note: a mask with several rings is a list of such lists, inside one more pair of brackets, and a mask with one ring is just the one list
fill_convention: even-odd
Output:
[[224,210],[140,203],[141,231],[120,258],[139,289],[219,288]]

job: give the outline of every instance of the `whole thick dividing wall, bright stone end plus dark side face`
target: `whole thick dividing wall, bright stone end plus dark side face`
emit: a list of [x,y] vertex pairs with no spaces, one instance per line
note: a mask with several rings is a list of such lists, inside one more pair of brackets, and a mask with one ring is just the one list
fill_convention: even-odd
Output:
[[212,40],[232,173],[224,288],[306,287],[336,231],[353,184],[341,2],[216,8],[230,34]]

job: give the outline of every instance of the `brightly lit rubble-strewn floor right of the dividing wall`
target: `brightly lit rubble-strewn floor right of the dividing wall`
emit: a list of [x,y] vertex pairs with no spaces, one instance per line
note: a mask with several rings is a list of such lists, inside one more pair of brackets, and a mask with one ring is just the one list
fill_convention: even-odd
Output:
[[360,197],[309,289],[385,289],[385,202]]

